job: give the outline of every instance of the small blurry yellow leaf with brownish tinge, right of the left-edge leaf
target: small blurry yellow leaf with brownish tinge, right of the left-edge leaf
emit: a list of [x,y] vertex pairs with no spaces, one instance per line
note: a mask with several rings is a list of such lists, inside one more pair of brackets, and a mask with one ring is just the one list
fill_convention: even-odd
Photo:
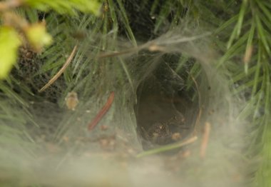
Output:
[[41,49],[51,44],[52,37],[46,32],[44,23],[32,24],[25,29],[26,38],[36,52],[41,52]]

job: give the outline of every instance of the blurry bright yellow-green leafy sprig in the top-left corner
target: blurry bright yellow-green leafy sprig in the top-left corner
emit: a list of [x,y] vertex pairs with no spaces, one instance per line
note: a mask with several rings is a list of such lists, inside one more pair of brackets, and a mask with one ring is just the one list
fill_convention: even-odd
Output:
[[[28,43],[24,42],[24,46],[29,44],[31,48],[38,53],[42,51],[44,46],[51,44],[52,41],[51,35],[46,32],[45,24],[29,24],[23,16],[18,16],[15,14],[13,9],[17,9],[20,6],[30,6],[31,9],[37,9],[39,11],[48,11],[53,9],[59,14],[77,15],[78,11],[83,11],[85,13],[93,13],[98,16],[100,13],[101,4],[94,0],[15,0],[0,2],[0,11],[3,11],[3,14],[1,14],[3,19],[2,24],[4,25],[4,27],[1,29],[1,45],[3,47],[1,47],[0,53],[4,55],[1,57],[0,79],[5,79],[11,70],[11,67],[16,63],[17,49],[23,43],[21,41],[27,41]],[[9,26],[13,29],[11,29],[11,31],[6,31],[6,26]],[[26,39],[21,39],[19,42],[19,35],[26,36]],[[4,39],[4,36],[7,36],[6,39]],[[4,46],[8,46],[8,48]]]

